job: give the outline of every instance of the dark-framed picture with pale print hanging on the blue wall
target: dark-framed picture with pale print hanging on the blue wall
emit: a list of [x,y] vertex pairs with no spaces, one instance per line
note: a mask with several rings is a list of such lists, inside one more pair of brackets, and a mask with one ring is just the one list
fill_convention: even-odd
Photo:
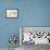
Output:
[[18,17],[18,9],[5,9],[5,17]]

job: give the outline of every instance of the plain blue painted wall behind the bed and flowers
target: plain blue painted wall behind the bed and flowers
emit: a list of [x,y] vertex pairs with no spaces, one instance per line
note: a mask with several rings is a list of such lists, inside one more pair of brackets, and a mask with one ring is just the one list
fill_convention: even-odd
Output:
[[[4,16],[5,9],[12,8],[18,9],[17,18]],[[50,0],[0,1],[0,48],[9,47],[10,35],[20,35],[18,26],[50,26]]]

